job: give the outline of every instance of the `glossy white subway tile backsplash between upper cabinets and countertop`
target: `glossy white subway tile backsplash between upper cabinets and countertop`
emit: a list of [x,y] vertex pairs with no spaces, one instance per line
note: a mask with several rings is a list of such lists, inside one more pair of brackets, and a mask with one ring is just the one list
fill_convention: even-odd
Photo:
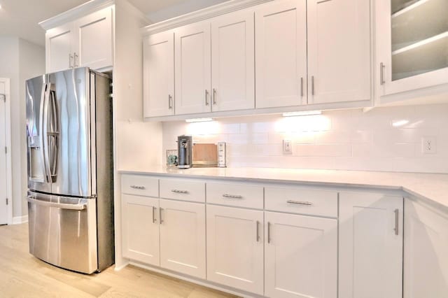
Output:
[[[225,141],[232,167],[448,173],[448,104],[164,122],[162,127],[164,152],[176,148],[180,134],[192,134],[195,143]],[[436,138],[433,154],[422,152],[426,136]],[[293,143],[292,154],[283,155],[283,139]]]

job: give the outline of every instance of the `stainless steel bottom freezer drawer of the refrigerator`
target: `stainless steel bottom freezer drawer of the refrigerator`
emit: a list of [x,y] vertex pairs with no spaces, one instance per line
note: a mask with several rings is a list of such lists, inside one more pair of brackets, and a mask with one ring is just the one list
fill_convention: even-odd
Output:
[[29,253],[59,267],[97,271],[96,200],[28,193]]

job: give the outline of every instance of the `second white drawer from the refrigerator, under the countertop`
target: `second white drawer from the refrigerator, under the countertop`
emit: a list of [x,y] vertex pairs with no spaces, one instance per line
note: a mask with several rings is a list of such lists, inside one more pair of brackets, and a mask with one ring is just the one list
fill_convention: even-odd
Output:
[[192,180],[160,179],[160,197],[205,202],[205,183]]

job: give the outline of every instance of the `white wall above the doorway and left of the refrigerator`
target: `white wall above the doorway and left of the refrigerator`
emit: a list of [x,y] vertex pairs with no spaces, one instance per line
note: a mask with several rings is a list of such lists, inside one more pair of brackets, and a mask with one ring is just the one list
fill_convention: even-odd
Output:
[[45,72],[45,49],[17,37],[0,36],[0,77],[10,78],[13,217],[27,215],[25,80]]

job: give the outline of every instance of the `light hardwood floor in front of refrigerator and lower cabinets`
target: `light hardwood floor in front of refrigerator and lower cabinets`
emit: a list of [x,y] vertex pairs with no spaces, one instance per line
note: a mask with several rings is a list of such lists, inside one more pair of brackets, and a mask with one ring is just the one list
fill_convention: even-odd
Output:
[[127,266],[101,274],[77,274],[28,252],[28,225],[0,226],[0,297],[188,297],[232,295]]

